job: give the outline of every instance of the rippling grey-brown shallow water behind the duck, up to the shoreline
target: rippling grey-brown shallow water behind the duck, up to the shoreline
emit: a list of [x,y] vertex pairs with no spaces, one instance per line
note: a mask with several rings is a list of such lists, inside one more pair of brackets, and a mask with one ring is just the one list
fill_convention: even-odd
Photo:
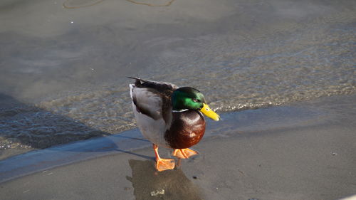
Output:
[[356,91],[355,1],[140,2],[1,1],[0,149],[134,127],[127,75],[217,112]]

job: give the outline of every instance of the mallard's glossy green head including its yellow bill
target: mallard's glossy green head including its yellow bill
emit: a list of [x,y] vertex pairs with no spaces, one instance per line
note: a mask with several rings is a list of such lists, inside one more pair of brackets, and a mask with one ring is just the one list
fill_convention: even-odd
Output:
[[215,121],[219,121],[220,117],[206,104],[204,95],[197,89],[184,87],[174,90],[172,94],[173,110],[200,110],[204,115]]

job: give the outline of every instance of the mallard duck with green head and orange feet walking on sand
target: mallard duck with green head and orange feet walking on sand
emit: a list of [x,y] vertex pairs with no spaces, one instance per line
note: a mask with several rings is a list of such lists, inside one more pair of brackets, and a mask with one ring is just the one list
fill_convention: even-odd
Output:
[[175,165],[174,159],[159,157],[158,147],[174,149],[173,156],[179,159],[198,154],[189,147],[204,135],[204,115],[216,121],[220,119],[206,104],[204,95],[191,87],[132,79],[135,79],[135,83],[130,84],[133,112],[142,135],[153,144],[156,169],[160,172],[174,169]]

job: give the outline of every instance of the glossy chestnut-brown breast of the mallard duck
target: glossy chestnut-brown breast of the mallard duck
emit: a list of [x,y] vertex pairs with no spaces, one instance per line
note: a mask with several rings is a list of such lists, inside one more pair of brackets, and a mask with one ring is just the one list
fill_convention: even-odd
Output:
[[164,139],[174,149],[184,149],[197,144],[205,132],[203,115],[196,110],[173,112],[172,125]]

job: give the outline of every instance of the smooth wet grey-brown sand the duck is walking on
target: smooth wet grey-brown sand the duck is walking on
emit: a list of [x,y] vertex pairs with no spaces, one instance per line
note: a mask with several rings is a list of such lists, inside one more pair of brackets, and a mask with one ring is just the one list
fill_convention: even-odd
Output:
[[5,181],[0,199],[340,199],[356,194],[355,102],[343,95],[226,113],[209,121],[194,147],[199,156],[179,169],[157,173],[147,144],[127,152],[119,145]]

